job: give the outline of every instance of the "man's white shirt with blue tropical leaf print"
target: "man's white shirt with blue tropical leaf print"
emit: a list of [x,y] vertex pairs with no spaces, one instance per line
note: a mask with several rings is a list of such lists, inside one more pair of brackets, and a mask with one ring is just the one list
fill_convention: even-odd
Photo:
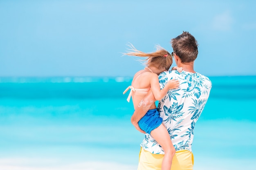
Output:
[[[211,81],[200,73],[165,71],[159,74],[161,88],[170,79],[180,82],[179,88],[171,89],[159,101],[158,110],[176,150],[192,152],[193,130],[207,102]],[[153,154],[164,154],[162,147],[150,134],[145,134],[141,147]]]

